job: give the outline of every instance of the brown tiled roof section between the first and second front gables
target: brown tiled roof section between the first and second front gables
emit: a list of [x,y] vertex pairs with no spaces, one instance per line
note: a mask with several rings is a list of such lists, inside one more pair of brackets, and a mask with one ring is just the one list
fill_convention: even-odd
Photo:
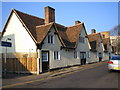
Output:
[[60,34],[64,44],[68,48],[76,48],[76,44],[79,39],[80,31],[82,29],[83,23],[65,27],[60,24],[56,24],[58,33]]

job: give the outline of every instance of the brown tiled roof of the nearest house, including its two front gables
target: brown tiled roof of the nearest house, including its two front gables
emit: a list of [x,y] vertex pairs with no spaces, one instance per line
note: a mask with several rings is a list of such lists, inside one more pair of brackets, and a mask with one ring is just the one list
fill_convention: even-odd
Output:
[[[44,23],[45,19],[23,13],[15,9],[13,9],[12,12],[15,12],[19,20],[22,22],[23,26],[27,28],[28,33],[35,40],[37,44],[42,43],[49,29],[54,25],[63,47],[76,48],[80,31],[82,27],[85,28],[83,23],[76,24],[74,26],[69,26],[69,27],[65,27],[57,23],[45,24]],[[12,12],[11,12],[11,15],[12,15]],[[3,33],[4,31],[5,29],[3,30]]]

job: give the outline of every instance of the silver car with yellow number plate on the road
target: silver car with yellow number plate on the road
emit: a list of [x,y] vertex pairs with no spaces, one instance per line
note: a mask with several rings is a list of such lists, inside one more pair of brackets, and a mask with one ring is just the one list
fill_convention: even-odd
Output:
[[108,69],[119,70],[120,71],[120,55],[113,55],[111,59],[108,61]]

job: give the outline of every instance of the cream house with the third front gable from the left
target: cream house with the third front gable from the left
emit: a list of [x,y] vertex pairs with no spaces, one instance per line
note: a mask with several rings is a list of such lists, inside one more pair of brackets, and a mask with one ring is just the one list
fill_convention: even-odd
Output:
[[91,34],[88,35],[88,39],[91,45],[91,62],[98,62],[102,61],[103,53],[104,53],[104,46],[102,42],[101,33],[96,33],[95,29],[91,30]]

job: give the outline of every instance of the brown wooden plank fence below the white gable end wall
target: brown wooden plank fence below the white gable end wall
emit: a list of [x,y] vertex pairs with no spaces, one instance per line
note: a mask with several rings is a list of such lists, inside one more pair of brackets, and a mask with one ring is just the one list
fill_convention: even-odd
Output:
[[[6,67],[5,67],[6,66]],[[22,57],[22,58],[2,58],[2,71],[16,73],[37,73],[37,58]]]

